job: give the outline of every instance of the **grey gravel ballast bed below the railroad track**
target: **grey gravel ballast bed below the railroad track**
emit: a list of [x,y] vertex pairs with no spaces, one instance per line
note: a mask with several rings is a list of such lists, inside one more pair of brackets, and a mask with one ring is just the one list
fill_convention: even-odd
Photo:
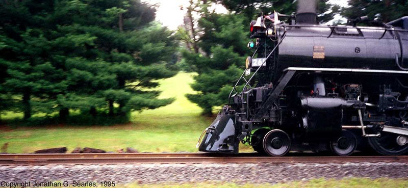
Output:
[[408,178],[405,163],[122,164],[0,166],[0,181],[277,183],[312,178]]

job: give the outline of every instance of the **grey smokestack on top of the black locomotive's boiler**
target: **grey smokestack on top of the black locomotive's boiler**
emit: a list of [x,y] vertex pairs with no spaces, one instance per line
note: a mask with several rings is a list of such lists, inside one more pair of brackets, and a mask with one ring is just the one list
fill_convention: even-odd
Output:
[[316,24],[317,0],[297,0],[296,23]]

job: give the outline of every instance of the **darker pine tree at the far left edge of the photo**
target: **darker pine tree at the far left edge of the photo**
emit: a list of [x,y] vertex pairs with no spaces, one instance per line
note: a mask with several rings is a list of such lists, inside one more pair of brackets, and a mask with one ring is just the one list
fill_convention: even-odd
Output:
[[[55,101],[50,95],[65,88],[63,72],[50,62],[50,33],[46,30],[48,11],[53,2],[3,2],[0,7],[1,57],[5,67],[3,92],[8,98],[21,97],[14,111],[24,119],[34,112],[50,113]],[[3,94],[4,95],[4,94]]]

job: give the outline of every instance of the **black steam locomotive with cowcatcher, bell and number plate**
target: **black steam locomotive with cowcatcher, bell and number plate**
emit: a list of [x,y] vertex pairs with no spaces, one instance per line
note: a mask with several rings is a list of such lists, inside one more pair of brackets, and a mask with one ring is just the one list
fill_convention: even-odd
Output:
[[333,151],[361,146],[408,152],[408,16],[379,26],[320,25],[316,1],[297,1],[296,17],[261,15],[250,23],[254,50],[200,151]]

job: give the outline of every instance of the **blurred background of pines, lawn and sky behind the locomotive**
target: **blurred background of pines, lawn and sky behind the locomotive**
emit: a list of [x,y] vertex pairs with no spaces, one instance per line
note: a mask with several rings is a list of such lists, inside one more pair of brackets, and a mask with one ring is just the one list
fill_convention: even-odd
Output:
[[[273,11],[296,1],[1,0],[0,152],[197,151],[244,70],[250,21]],[[323,24],[366,15],[407,16],[408,1],[318,3]]]

